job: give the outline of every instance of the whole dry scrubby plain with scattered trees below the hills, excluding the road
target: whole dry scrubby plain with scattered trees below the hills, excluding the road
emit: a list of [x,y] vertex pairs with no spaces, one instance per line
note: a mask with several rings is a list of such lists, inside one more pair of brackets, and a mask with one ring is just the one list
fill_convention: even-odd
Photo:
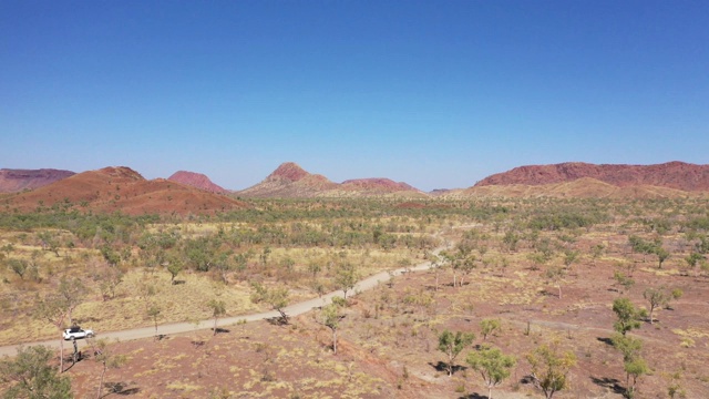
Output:
[[[155,328],[101,352],[82,342],[89,360],[59,368],[41,352],[74,397],[709,397],[706,200],[247,203],[0,213],[0,345],[59,340],[70,324]],[[347,299],[281,311],[335,290]],[[279,320],[219,323],[271,309]],[[161,336],[196,320],[214,330]],[[40,378],[16,362],[0,365],[6,396]]]

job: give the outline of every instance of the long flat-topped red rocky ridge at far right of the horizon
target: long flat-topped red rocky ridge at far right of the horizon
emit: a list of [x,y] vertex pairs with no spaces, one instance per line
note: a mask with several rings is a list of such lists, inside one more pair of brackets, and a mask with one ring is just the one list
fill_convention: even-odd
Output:
[[709,191],[709,165],[668,162],[656,165],[613,165],[568,162],[520,166],[483,178],[475,187],[546,185],[589,177],[618,187],[658,186],[687,192]]

